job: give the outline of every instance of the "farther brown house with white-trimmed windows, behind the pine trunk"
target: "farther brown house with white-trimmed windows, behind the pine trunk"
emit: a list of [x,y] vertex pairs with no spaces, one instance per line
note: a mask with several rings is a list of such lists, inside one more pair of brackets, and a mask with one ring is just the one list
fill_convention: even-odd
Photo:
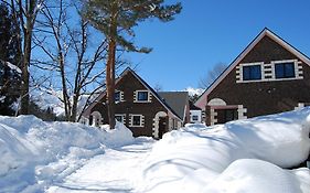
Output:
[[[116,119],[127,126],[135,137],[161,138],[189,121],[186,92],[154,92],[132,69],[126,68],[116,81]],[[82,122],[100,127],[108,124],[106,92],[89,105]]]

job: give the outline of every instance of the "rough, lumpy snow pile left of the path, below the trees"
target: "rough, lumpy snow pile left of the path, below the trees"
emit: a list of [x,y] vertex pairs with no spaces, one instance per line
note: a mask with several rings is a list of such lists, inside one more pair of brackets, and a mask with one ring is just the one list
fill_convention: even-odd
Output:
[[[118,136],[120,136],[118,138]],[[0,117],[0,192],[38,192],[57,183],[105,147],[131,143],[121,124],[113,131],[34,116]]]

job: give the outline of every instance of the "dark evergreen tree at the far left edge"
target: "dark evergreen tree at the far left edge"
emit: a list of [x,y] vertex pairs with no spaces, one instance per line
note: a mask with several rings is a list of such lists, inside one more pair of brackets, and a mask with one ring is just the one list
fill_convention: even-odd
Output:
[[[19,97],[21,83],[17,30],[4,3],[0,4],[0,115],[14,115],[11,106]],[[14,65],[13,65],[14,64]]]

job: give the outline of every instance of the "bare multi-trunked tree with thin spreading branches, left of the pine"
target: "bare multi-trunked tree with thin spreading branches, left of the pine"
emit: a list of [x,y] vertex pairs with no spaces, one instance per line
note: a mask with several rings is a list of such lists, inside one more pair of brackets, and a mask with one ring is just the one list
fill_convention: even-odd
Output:
[[[77,120],[81,97],[86,93],[88,97],[95,94],[89,92],[92,85],[96,85],[94,90],[105,86],[101,84],[105,71],[101,68],[99,71],[97,64],[105,61],[106,40],[90,42],[93,37],[88,32],[90,26],[77,11],[77,4],[70,4],[65,0],[43,3],[43,18],[39,21],[34,41],[46,56],[43,60],[42,56],[38,57],[34,64],[43,71],[56,72],[62,89],[60,100],[64,104],[65,118],[68,121]],[[78,18],[74,20],[78,21],[77,25],[73,24],[73,19],[68,17],[72,12]],[[50,83],[46,88],[51,85],[57,87],[57,82]]]

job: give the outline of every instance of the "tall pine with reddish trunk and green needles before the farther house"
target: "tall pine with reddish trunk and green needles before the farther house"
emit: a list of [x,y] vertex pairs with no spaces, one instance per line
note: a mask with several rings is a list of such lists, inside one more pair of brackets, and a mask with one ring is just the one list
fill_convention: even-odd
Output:
[[149,53],[147,47],[138,49],[128,36],[135,36],[133,26],[148,19],[157,18],[168,22],[181,12],[181,3],[165,6],[164,0],[87,0],[84,15],[108,39],[106,64],[107,107],[110,128],[115,128],[115,58],[117,46],[129,52]]

